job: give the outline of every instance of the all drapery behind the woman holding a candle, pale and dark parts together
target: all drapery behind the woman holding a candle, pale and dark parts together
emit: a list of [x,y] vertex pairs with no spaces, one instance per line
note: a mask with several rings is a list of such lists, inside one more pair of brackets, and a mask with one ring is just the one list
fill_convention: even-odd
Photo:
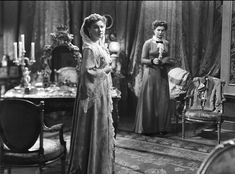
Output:
[[[140,54],[144,41],[152,36],[155,19],[168,22],[170,55],[192,76],[219,75],[221,4],[215,1],[143,1],[140,21],[131,50],[130,86],[138,96],[141,88]],[[151,12],[151,13],[150,13]]]

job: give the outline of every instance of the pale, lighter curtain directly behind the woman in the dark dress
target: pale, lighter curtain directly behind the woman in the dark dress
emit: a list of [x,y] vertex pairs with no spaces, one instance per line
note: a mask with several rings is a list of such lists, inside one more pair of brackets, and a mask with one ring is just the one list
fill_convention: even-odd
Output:
[[180,13],[177,12],[178,1],[143,1],[141,4],[140,17],[137,32],[135,35],[134,44],[130,55],[129,86],[136,96],[139,95],[142,82],[142,65],[140,56],[144,42],[153,36],[151,28],[152,22],[156,19],[168,22],[168,30],[166,34],[167,40],[170,42],[170,54],[178,59],[180,63],[179,43],[177,43],[177,18],[180,18]]

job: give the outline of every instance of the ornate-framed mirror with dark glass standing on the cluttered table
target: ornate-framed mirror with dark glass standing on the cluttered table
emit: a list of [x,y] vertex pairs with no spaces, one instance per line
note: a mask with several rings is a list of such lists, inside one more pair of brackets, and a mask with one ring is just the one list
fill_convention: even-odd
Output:
[[58,26],[57,31],[50,35],[52,44],[45,46],[41,62],[44,75],[47,74],[49,81],[55,82],[61,68],[73,67],[79,72],[81,54],[79,48],[71,43],[73,35],[68,33],[66,26]]

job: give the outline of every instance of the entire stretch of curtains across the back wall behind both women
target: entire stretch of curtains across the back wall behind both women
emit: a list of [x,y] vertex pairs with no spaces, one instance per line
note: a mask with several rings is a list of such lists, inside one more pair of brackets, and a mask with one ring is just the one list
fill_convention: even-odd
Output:
[[[35,42],[36,60],[50,45],[50,33],[67,25],[74,34],[73,44],[82,46],[79,34],[84,17],[91,13],[109,14],[121,44],[119,59],[124,78],[120,80],[123,107],[135,107],[142,81],[140,56],[145,40],[152,37],[155,19],[168,22],[166,38],[177,66],[192,76],[219,76],[222,1],[1,1],[0,47],[13,58],[13,42],[25,34],[26,56]],[[1,54],[1,55],[2,55]],[[35,64],[35,71],[40,67]],[[125,110],[125,108],[124,108]],[[133,109],[135,110],[135,109]],[[134,114],[134,112],[133,112]]]

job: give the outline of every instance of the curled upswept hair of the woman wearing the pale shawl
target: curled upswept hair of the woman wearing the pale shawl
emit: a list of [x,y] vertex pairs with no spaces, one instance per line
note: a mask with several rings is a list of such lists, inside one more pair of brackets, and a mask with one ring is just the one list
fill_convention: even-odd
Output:
[[[104,16],[101,16],[99,14],[93,13],[90,16],[86,17],[84,19],[84,33],[89,36],[88,28],[91,27],[92,24],[96,23],[97,21],[102,21],[106,25],[107,19]],[[89,36],[90,37],[90,36]]]

